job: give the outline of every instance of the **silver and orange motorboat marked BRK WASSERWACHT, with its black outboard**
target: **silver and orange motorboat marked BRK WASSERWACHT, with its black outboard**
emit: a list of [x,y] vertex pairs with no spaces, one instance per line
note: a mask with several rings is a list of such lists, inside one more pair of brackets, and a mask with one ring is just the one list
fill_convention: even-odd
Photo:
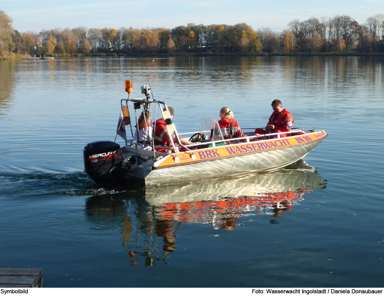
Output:
[[[151,187],[270,172],[304,158],[328,135],[323,130],[295,128],[290,132],[257,137],[252,128],[248,133],[243,129],[246,137],[224,139],[215,119],[202,119],[201,128],[194,132],[178,133],[167,105],[163,101],[150,99],[150,90],[149,85],[141,86],[145,98],[133,99],[132,81],[125,81],[125,91],[129,98],[120,101],[121,112],[117,126],[117,134],[123,137],[125,145],[101,141],[84,147],[85,171],[96,183]],[[134,118],[129,111],[132,104]],[[142,111],[150,111],[155,120],[162,118],[169,137],[175,135],[175,142],[170,142],[169,146],[161,146],[155,144],[153,138],[152,142],[127,138],[126,128],[131,129],[132,137],[135,137],[134,131],[137,132],[136,137],[139,137],[138,117]],[[282,137],[281,134],[288,136]],[[189,141],[193,144],[183,145],[179,135],[190,136]],[[161,149],[166,149],[167,153],[158,152]]]

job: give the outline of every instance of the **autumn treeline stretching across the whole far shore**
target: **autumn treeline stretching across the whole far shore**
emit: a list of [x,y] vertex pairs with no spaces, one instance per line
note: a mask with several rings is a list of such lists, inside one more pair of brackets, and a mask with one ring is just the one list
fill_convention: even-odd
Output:
[[286,30],[254,31],[242,23],[179,26],[174,29],[92,28],[42,30],[19,33],[12,19],[0,11],[0,56],[76,54],[177,53],[325,53],[384,52],[384,14],[369,17],[364,25],[349,16],[295,19]]

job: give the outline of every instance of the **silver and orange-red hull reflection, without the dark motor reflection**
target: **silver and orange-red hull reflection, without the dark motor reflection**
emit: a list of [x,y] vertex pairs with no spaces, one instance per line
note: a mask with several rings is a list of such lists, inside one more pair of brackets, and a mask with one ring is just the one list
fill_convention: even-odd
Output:
[[169,220],[226,228],[234,227],[243,215],[279,217],[303,200],[305,193],[324,188],[324,178],[301,160],[270,174],[147,188],[145,200]]

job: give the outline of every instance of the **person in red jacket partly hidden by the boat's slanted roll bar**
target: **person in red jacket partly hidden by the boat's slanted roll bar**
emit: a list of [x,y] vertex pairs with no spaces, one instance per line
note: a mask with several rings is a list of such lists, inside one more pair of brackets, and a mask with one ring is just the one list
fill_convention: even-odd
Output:
[[[163,111],[166,111],[166,109],[164,108]],[[170,118],[172,119],[174,117],[174,108],[168,107],[168,111],[170,114]],[[171,133],[172,137],[169,137],[164,119],[159,119],[156,122],[154,122],[153,124],[154,124],[154,129],[155,129],[155,135],[154,135],[155,146],[164,146],[165,147],[165,148],[156,148],[156,151],[162,152],[162,153],[169,152],[168,150],[170,150],[170,149],[168,149],[168,148],[172,147],[172,143],[171,143],[172,140],[175,144],[177,142],[175,133],[172,132]],[[193,144],[193,143],[189,142],[188,140],[185,140],[185,138],[179,137],[179,139],[183,145]],[[176,145],[176,146],[178,146],[178,145]]]

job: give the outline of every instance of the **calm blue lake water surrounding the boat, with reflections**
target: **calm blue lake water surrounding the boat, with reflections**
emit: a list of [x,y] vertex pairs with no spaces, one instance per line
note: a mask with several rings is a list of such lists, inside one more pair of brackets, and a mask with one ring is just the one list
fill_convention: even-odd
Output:
[[[0,267],[45,287],[383,287],[384,59],[0,61]],[[278,172],[153,189],[98,187],[86,143],[114,141],[124,80],[179,132],[223,106],[329,136]],[[117,138],[118,143],[122,143]]]

